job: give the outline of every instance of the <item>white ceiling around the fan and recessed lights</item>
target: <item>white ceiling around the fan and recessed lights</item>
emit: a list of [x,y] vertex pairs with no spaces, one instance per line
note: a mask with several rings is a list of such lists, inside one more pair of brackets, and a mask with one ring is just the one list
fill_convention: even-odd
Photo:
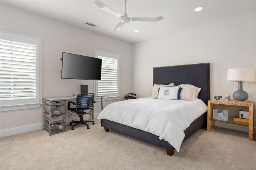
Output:
[[[116,39],[135,43],[175,31],[196,27],[256,10],[256,0],[128,0],[128,17],[156,17],[157,22],[131,21],[120,31],[112,29],[119,18],[100,9],[94,0],[0,0],[54,20],[62,21]],[[101,0],[112,10],[123,14],[123,0]],[[203,6],[200,12],[194,8]],[[91,27],[86,22],[98,25]],[[140,32],[134,32],[140,29]]]

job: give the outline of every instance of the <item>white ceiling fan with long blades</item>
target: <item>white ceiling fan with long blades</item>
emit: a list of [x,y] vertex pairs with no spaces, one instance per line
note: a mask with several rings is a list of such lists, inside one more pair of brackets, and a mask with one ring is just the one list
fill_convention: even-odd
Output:
[[120,28],[125,24],[132,21],[160,21],[163,19],[162,16],[159,17],[132,17],[129,18],[126,13],[126,2],[127,0],[124,0],[124,14],[121,15],[114,10],[110,9],[108,6],[106,6],[104,3],[100,2],[99,0],[94,1],[95,4],[100,7],[102,10],[105,10],[106,12],[109,12],[110,14],[113,14],[116,17],[120,18],[120,22],[114,27],[114,31],[119,31]]

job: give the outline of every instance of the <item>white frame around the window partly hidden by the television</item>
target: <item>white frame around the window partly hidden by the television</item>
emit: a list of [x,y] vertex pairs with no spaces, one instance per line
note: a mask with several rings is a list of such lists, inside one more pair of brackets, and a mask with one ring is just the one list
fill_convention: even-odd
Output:
[[[103,100],[118,100],[120,97],[120,88],[119,88],[119,60],[120,60],[120,55],[117,53],[110,53],[107,51],[101,51],[101,50],[97,50],[94,49],[94,57],[98,58],[98,56],[101,57],[108,57],[108,58],[114,58],[117,59],[117,94],[100,94],[103,95]],[[95,96],[98,96],[98,80],[94,80],[94,94]],[[100,101],[100,98],[96,98],[95,99],[96,102]]]

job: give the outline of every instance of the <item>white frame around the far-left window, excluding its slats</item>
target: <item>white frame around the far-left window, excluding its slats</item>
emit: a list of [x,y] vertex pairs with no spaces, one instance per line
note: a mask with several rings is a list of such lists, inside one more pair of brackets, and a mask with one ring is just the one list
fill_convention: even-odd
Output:
[[19,103],[17,100],[3,100],[0,102],[0,111],[40,107],[42,104],[42,39],[2,29],[0,29],[0,39],[36,45],[36,98],[32,102],[29,99],[22,99]]

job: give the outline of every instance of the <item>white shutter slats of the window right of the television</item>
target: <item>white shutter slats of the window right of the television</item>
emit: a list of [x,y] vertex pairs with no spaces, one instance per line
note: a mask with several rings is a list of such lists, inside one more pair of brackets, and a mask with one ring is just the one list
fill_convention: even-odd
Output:
[[118,61],[114,58],[98,56],[102,59],[101,80],[98,81],[98,94],[118,93]]

